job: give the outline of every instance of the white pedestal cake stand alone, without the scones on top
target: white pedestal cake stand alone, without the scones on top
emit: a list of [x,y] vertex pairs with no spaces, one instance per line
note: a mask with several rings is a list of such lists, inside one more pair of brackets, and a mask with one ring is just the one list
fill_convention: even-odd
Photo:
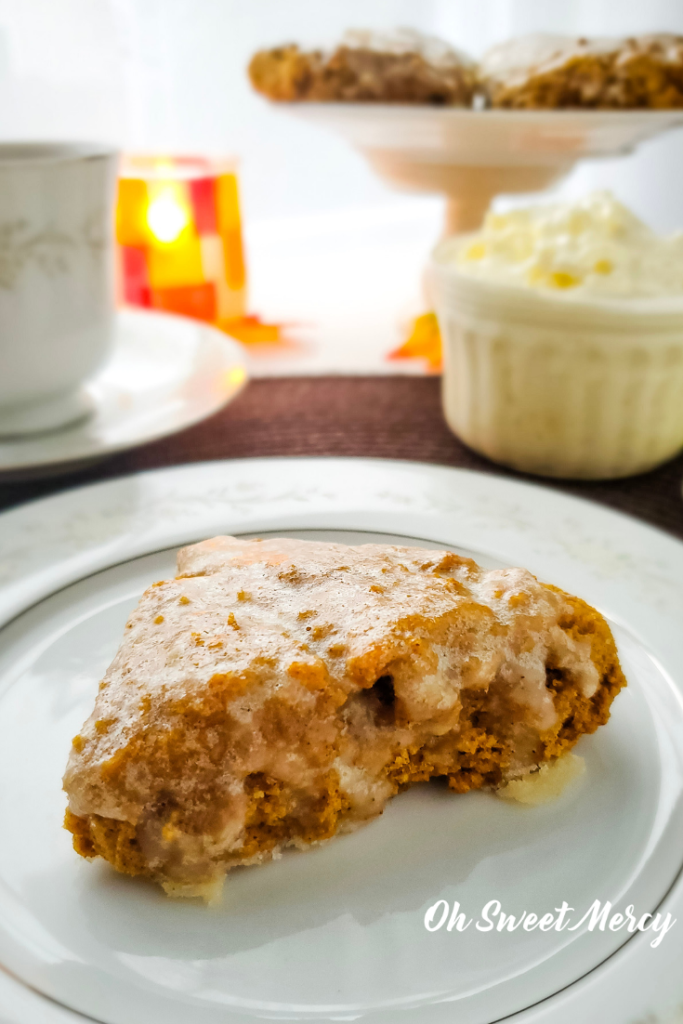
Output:
[[683,125],[683,111],[472,111],[279,103],[342,135],[385,180],[447,198],[445,232],[479,226],[500,193],[539,191],[579,160],[613,157]]

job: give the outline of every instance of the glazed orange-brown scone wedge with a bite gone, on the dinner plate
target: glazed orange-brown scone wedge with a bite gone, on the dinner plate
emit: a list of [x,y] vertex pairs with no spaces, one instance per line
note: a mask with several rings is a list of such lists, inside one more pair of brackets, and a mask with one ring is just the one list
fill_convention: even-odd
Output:
[[625,684],[584,601],[450,551],[218,537],[126,624],[65,775],[84,857],[210,896],[413,782],[524,777]]

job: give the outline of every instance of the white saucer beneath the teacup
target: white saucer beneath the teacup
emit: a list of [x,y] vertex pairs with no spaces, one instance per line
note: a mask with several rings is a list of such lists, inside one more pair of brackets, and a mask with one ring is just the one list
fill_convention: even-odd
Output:
[[65,472],[165,437],[216,413],[246,381],[242,347],[215,328],[121,310],[112,358],[84,389],[91,416],[50,433],[1,439],[0,474]]

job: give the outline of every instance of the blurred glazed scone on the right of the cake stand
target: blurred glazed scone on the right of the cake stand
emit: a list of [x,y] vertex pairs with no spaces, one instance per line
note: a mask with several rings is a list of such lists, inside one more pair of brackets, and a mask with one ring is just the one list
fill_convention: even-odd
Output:
[[586,39],[530,35],[479,66],[493,106],[668,110],[683,106],[683,36]]

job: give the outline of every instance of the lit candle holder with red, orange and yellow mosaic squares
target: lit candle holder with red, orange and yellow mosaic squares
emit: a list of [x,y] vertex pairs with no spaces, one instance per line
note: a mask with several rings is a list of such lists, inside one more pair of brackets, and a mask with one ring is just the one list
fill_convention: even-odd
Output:
[[117,207],[121,297],[222,326],[241,319],[247,280],[234,165],[129,157]]

